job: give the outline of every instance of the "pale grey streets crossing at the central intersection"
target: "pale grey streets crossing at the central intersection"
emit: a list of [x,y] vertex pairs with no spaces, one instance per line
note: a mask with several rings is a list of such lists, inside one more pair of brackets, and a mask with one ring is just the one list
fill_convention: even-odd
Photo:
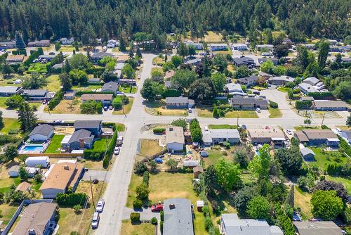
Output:
[[[147,124],[169,123],[179,117],[153,116],[145,113],[143,98],[140,96],[140,89],[144,80],[149,77],[152,69],[152,58],[154,54],[143,54],[144,64],[138,92],[134,95],[133,107],[128,115],[77,115],[77,114],[48,114],[42,110],[37,111],[39,120],[103,120],[105,122],[121,122],[126,125],[124,145],[121,153],[114,162],[111,170],[111,178],[103,198],[105,199],[105,209],[100,217],[100,225],[95,230],[95,234],[119,234],[121,228],[121,217],[124,206],[126,205],[128,185],[131,180],[133,170],[134,155],[140,139],[140,129]],[[14,110],[1,110],[4,118],[17,118]],[[290,116],[289,116],[290,117]],[[245,124],[251,128],[262,128],[272,126],[283,128],[293,128],[296,125],[303,125],[303,117],[292,115],[291,118],[246,118],[239,119],[239,124]],[[237,124],[236,118],[198,118],[201,125],[209,124]],[[322,119],[312,119],[312,125],[321,125]],[[345,125],[345,118],[325,119],[325,125]]]

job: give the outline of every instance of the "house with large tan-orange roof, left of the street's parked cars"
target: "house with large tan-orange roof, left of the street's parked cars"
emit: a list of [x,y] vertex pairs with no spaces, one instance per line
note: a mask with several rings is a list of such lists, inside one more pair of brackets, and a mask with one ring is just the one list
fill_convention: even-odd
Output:
[[65,193],[68,188],[77,189],[83,172],[81,163],[55,163],[46,172],[40,191],[43,198],[55,198],[58,193]]

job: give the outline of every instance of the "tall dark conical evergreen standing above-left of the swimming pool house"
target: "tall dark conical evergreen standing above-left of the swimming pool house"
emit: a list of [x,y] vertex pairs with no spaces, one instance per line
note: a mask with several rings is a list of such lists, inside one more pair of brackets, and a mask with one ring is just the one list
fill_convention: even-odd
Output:
[[37,115],[34,114],[29,103],[23,102],[18,108],[18,122],[20,122],[20,129],[22,132],[29,132],[37,125]]

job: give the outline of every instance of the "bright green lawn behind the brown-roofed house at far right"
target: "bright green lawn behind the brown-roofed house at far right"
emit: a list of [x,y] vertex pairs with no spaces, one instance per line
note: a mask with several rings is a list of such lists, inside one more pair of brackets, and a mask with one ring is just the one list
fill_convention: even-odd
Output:
[[312,147],[314,152],[315,162],[306,163],[309,166],[318,166],[326,170],[328,165],[345,165],[350,163],[350,160],[346,156],[342,155],[338,151],[323,152],[321,148]]

